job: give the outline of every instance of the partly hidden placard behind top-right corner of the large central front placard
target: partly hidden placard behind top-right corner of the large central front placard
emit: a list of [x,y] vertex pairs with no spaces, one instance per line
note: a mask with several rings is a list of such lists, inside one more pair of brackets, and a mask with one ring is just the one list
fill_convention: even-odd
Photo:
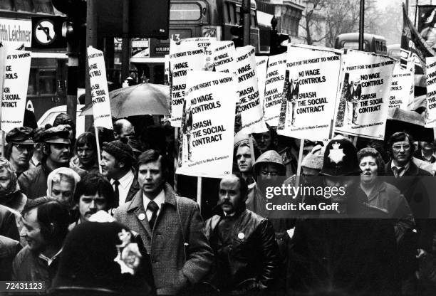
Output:
[[215,71],[234,73],[236,49],[233,41],[217,41],[212,49]]

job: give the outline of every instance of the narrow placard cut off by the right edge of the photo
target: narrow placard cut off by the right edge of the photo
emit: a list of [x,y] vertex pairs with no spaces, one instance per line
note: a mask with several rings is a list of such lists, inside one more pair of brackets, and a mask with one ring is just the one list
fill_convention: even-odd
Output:
[[425,127],[436,127],[436,57],[426,58],[427,64],[427,110]]

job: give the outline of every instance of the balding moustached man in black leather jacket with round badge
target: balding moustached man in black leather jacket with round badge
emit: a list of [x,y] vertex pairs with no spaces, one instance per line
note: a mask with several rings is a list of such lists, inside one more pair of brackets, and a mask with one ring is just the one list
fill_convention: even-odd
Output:
[[274,228],[266,218],[245,207],[248,187],[233,174],[219,184],[219,215],[206,221],[204,231],[215,254],[211,283],[230,295],[267,290],[279,272]]

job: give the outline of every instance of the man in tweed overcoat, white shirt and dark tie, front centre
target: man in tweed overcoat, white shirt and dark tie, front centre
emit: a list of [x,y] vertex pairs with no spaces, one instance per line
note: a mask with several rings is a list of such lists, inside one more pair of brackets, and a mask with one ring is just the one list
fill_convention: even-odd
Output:
[[137,165],[141,190],[115,210],[114,218],[142,239],[157,295],[177,295],[202,280],[212,265],[199,206],[167,184],[170,164],[164,155],[147,150]]

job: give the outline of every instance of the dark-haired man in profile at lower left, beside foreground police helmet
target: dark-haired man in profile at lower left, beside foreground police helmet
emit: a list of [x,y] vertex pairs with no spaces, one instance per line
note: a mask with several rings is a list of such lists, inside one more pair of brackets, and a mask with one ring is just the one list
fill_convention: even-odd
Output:
[[68,209],[54,199],[41,197],[28,201],[21,221],[20,236],[27,245],[14,259],[12,280],[45,282],[48,289],[68,233]]

